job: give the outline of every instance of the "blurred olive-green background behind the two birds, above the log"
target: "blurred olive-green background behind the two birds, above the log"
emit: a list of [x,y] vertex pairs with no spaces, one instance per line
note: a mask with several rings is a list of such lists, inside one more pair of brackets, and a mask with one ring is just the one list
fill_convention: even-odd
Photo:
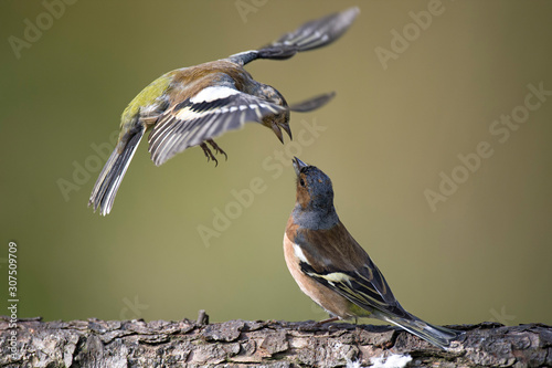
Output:
[[[289,103],[337,91],[291,115],[295,144],[250,124],[217,139],[229,154],[217,168],[199,148],[156,167],[144,140],[112,214],[86,207],[105,162],[95,145],[149,82],[350,6],[361,14],[337,43],[247,66]],[[297,155],[330,176],[341,220],[413,314],[552,323],[552,96],[527,97],[529,84],[552,90],[552,2],[82,0],[47,12],[0,2],[0,293],[15,241],[20,317],[325,318],[283,256]],[[34,40],[25,29],[38,22]],[[14,51],[13,36],[33,41]],[[493,123],[512,112],[524,123]],[[481,141],[492,156],[477,167]],[[463,182],[443,185],[454,193],[432,209],[427,190],[453,174]],[[232,204],[254,178],[264,191]],[[202,240],[229,204],[241,213]]]

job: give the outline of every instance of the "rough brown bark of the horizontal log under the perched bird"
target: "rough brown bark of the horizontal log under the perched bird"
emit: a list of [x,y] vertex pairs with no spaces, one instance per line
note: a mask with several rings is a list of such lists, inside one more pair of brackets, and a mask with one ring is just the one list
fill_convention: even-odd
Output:
[[[390,326],[0,318],[0,367],[552,367],[552,327],[453,326],[443,351]],[[13,328],[14,327],[14,328]]]

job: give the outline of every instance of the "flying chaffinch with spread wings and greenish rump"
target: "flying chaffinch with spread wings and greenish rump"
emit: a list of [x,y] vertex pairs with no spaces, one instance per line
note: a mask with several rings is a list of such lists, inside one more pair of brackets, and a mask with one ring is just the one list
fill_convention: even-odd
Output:
[[209,159],[226,154],[213,138],[256,122],[270,128],[280,141],[282,129],[291,138],[289,112],[309,112],[325,105],[333,93],[288,106],[274,87],[255,81],[244,65],[256,59],[285,60],[298,52],[336,41],[354,21],[358,8],[307,22],[279,40],[226,59],[171,71],[144,88],[123,112],[117,146],[92,191],[88,206],[109,213],[120,181],[146,130],[151,159],[159,166],[193,146]]

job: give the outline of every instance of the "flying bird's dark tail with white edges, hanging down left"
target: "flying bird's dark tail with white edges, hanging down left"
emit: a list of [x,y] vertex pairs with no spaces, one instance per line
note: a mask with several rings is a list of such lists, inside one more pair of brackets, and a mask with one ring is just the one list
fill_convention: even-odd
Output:
[[96,212],[98,207],[102,215],[106,215],[112,211],[120,181],[125,177],[125,172],[127,172],[128,164],[130,164],[136,148],[144,137],[144,128],[134,132],[123,151],[119,153],[119,148],[115,147],[112,156],[107,159],[88,200],[88,207],[92,206],[94,212]]

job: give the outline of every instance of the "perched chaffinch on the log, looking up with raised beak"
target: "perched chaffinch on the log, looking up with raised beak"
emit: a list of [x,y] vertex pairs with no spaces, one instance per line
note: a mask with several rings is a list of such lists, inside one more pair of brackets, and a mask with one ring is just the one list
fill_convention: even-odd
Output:
[[294,168],[297,199],[284,235],[284,255],[300,290],[332,316],[323,322],[378,318],[446,349],[460,333],[406,312],[339,220],[330,178],[297,157]]

